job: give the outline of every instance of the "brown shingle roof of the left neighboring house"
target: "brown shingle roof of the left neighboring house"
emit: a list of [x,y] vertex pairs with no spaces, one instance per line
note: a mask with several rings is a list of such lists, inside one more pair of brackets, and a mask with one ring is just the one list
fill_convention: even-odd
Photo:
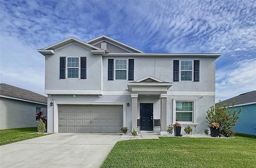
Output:
[[17,88],[15,86],[11,86],[8,84],[0,84],[1,90],[0,95],[8,96],[13,98],[19,98],[24,100],[30,100],[33,102],[40,102],[47,104],[47,97],[37,94],[35,92],[31,92],[29,90],[25,90],[22,88]]

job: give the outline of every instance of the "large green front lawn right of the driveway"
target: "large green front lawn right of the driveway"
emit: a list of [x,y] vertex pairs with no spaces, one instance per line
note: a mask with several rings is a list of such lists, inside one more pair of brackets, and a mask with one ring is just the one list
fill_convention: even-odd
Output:
[[256,139],[161,137],[119,141],[101,168],[253,168]]

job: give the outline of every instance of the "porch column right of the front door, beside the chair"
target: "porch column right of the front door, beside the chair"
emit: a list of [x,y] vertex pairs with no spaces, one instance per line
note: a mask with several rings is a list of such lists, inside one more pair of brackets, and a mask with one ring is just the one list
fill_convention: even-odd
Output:
[[161,135],[167,135],[167,125],[166,125],[166,111],[167,111],[167,94],[161,94]]

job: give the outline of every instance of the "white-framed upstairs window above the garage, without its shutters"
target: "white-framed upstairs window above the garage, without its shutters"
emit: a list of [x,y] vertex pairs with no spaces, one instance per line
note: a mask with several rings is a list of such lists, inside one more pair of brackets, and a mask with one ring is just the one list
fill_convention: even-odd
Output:
[[67,57],[67,78],[79,78],[80,76],[80,58],[79,57]]

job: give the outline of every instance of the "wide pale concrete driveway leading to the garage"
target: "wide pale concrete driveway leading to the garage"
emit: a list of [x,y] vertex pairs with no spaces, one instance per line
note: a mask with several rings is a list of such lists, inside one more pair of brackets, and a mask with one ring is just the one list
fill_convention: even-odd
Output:
[[120,133],[56,133],[0,147],[1,168],[98,168]]

